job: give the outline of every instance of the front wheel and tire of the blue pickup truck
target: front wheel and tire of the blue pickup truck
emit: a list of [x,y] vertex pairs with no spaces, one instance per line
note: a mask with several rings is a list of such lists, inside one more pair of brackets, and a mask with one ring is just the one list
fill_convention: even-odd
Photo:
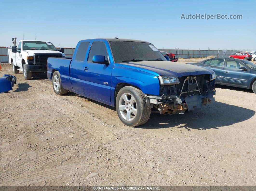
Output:
[[142,91],[133,86],[125,86],[118,92],[115,106],[119,119],[131,127],[146,123],[151,114]]

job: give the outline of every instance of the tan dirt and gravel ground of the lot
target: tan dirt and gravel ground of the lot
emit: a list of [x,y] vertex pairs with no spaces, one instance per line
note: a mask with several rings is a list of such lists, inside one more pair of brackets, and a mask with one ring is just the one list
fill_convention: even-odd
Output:
[[251,90],[218,85],[209,106],[132,128],[110,106],[56,95],[44,75],[15,76],[0,94],[0,185],[256,185]]

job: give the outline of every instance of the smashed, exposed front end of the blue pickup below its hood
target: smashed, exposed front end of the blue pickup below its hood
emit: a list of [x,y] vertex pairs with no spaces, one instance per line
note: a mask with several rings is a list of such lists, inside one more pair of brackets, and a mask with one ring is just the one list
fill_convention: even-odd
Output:
[[184,114],[186,110],[201,108],[202,105],[210,104],[215,95],[214,79],[212,75],[189,75],[176,78],[173,83],[164,84],[159,78],[159,96],[145,95],[148,98],[147,106],[152,112],[161,114]]

